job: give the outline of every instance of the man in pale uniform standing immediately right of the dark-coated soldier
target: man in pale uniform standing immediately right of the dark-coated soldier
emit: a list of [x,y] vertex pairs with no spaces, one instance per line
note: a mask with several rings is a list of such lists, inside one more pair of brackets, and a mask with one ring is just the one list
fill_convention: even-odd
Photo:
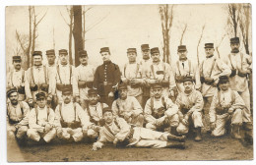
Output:
[[124,65],[121,80],[123,83],[127,83],[128,96],[134,96],[142,105],[142,72],[140,64],[136,62],[137,51],[136,48],[127,49],[127,57],[129,63]]

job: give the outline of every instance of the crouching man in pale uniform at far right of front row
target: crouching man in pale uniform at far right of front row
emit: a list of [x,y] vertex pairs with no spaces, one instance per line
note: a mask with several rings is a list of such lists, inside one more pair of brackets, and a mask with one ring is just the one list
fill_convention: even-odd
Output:
[[245,103],[237,91],[229,87],[226,76],[219,79],[218,91],[214,95],[209,112],[212,136],[224,136],[225,124],[230,120],[232,137],[241,138],[239,130],[242,125],[243,109],[246,108]]

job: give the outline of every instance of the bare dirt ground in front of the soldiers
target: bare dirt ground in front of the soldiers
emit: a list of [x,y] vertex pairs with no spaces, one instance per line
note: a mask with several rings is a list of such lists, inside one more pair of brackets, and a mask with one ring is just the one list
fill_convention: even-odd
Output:
[[8,139],[7,158],[9,162],[49,161],[138,161],[138,160],[250,160],[253,159],[253,145],[225,136],[203,140],[186,140],[185,149],[177,148],[115,148],[112,145],[92,151],[92,143],[49,143],[19,147],[15,140]]

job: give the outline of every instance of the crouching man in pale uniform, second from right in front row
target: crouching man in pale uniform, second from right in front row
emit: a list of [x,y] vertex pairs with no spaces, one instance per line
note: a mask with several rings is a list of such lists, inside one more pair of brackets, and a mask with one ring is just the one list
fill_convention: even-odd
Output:
[[193,78],[185,77],[183,79],[184,91],[177,96],[175,104],[179,111],[179,126],[177,132],[179,134],[187,134],[189,125],[193,124],[196,130],[196,141],[202,140],[201,128],[203,127],[202,109],[204,107],[203,96],[200,91],[193,88]]

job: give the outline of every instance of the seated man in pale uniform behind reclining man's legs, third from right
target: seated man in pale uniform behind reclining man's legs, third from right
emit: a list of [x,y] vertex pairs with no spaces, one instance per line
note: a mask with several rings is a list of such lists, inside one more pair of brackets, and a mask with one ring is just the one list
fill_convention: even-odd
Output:
[[154,96],[147,101],[144,111],[146,128],[160,132],[171,131],[171,134],[176,135],[176,127],[179,123],[178,107],[171,99],[161,95],[161,92],[161,84],[155,83]]

